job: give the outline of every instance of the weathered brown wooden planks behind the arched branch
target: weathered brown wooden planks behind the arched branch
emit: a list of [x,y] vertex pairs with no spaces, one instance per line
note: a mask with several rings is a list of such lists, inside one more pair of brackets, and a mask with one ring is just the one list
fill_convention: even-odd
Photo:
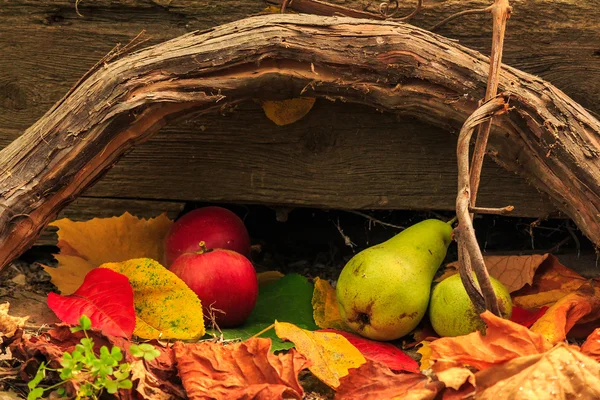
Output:
[[[357,9],[364,5],[356,0],[338,3]],[[429,27],[458,10],[488,3],[426,1],[413,23]],[[71,0],[4,0],[0,4],[0,146],[41,117],[117,42],[126,43],[145,29],[152,38],[149,43],[158,43],[259,13],[265,7],[262,0],[94,0],[80,3],[80,17]],[[508,27],[507,64],[549,79],[585,107],[600,111],[600,26],[595,22],[600,20],[600,9],[595,1],[515,0],[511,4],[515,11]],[[413,2],[402,1],[400,7],[400,14],[406,14]],[[487,16],[465,17],[440,33],[485,53],[491,43],[488,20]],[[305,143],[306,132],[311,132],[313,141],[325,141],[314,144],[321,148],[318,156],[306,155],[305,147],[310,146]],[[360,136],[350,135],[336,151],[327,146],[330,133],[343,137],[346,132]],[[394,132],[400,136],[394,136],[393,152],[377,146],[389,141]],[[222,140],[231,133],[235,141]],[[257,143],[254,136],[269,138],[264,142],[270,145]],[[356,157],[355,146],[363,142],[377,162]],[[454,146],[454,137],[440,135],[438,129],[422,122],[397,121],[367,108],[346,109],[321,101],[308,118],[282,129],[256,107],[244,106],[225,117],[165,128],[134,149],[88,193],[329,208],[453,209]],[[194,158],[200,149],[213,155]],[[277,157],[270,156],[272,151]],[[401,156],[396,155],[398,151]],[[233,158],[240,154],[253,157],[242,165]],[[336,154],[346,162],[353,160],[353,167],[338,168]],[[515,204],[514,215],[539,216],[552,209],[523,179],[489,162],[486,167],[480,204]]]

